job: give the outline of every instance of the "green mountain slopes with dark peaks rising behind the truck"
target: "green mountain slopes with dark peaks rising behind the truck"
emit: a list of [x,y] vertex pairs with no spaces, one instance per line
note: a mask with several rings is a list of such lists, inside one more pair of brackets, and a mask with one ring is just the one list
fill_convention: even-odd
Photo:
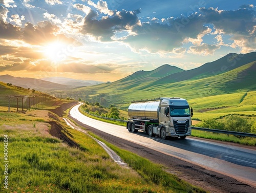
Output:
[[[256,90],[256,52],[228,54],[216,61],[184,71],[163,65],[153,71],[138,71],[112,83],[79,88],[79,95],[91,95],[88,100],[125,103],[137,99],[165,96],[213,96]],[[73,90],[76,93],[76,90]],[[104,94],[104,97],[100,97]]]

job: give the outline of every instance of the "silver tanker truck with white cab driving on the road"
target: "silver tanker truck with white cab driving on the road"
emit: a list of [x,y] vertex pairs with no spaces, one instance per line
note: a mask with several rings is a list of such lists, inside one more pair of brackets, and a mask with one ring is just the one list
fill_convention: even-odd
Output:
[[129,132],[138,130],[150,137],[180,137],[191,135],[191,117],[193,109],[183,98],[160,98],[160,101],[132,103],[128,108],[129,120],[126,128]]

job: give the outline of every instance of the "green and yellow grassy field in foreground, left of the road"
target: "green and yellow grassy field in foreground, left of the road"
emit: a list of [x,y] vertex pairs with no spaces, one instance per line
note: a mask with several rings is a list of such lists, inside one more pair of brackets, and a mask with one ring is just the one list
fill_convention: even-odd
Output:
[[[0,138],[4,148],[8,137],[9,161],[9,189],[2,184],[3,192],[204,192],[165,173],[162,166],[108,144],[133,169],[121,167],[91,137],[59,120],[62,132],[79,148],[49,134],[48,122],[56,120],[48,111],[0,112]],[[1,164],[0,173],[4,170]]]

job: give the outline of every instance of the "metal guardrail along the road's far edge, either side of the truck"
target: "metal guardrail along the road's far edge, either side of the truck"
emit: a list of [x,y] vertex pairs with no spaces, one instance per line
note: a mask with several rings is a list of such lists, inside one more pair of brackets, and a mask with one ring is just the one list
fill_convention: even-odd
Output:
[[[83,111],[81,109],[81,111]],[[101,119],[107,119],[107,120],[112,120],[112,121],[120,121],[120,122],[127,122],[126,120],[122,119],[113,119],[113,118],[108,118],[108,117],[101,117],[97,115],[93,115],[91,113],[88,113],[86,111],[83,111],[84,113],[87,113],[89,115],[92,115],[94,117],[98,117]],[[202,127],[192,127],[193,130],[199,130],[199,131],[205,131],[205,132],[213,132],[213,133],[222,133],[222,134],[227,134],[227,135],[237,135],[237,136],[243,136],[243,137],[256,137],[256,134],[251,134],[251,133],[243,133],[243,132],[232,132],[232,131],[226,131],[226,130],[214,130],[212,128],[202,128]]]

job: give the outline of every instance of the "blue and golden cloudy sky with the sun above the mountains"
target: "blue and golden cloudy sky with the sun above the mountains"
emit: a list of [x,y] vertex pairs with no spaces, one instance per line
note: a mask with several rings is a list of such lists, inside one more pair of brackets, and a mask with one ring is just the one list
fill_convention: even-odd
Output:
[[256,51],[255,0],[0,0],[0,75],[116,81]]

